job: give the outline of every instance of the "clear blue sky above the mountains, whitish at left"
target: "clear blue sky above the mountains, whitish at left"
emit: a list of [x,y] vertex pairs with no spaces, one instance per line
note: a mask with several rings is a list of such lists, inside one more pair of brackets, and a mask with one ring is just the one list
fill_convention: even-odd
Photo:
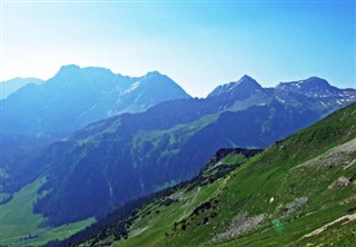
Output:
[[355,1],[1,1],[1,80],[77,63],[158,70],[199,97],[245,73],[356,87]]

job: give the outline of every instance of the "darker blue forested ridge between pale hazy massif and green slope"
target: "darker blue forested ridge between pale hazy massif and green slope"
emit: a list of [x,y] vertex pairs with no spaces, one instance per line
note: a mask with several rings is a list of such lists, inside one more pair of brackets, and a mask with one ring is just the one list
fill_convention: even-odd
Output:
[[[103,215],[194,177],[221,147],[265,148],[356,100],[355,89],[320,88],[320,80],[307,79],[309,86],[298,90],[296,82],[263,88],[245,76],[206,99],[171,100],[91,124],[27,162],[12,161],[9,166],[21,169],[10,174],[6,187],[19,188],[46,174],[40,189],[46,196],[34,209],[50,223]],[[126,83],[126,90],[136,87]]]

